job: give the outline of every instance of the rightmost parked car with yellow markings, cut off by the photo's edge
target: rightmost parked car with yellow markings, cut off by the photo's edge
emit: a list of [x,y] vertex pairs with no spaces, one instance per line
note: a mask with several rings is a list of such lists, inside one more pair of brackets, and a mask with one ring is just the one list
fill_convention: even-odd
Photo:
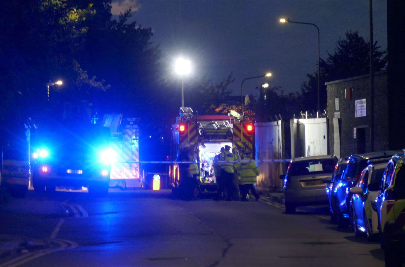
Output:
[[405,156],[393,156],[384,169],[376,201],[381,246],[405,241]]

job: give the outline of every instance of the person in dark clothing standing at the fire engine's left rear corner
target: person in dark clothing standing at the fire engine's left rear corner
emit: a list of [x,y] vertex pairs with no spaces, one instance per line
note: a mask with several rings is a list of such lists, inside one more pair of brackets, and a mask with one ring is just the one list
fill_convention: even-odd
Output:
[[181,199],[192,200],[196,197],[195,191],[197,186],[198,165],[190,151],[190,144],[185,143],[177,161],[188,161],[193,163],[179,163],[180,192]]

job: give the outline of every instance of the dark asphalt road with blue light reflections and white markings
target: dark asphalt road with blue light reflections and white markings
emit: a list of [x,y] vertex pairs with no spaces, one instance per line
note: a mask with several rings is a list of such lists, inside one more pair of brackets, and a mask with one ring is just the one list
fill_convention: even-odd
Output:
[[30,191],[0,210],[4,236],[47,246],[0,258],[0,266],[384,266],[378,243],[339,231],[317,211],[181,201],[166,190],[102,198]]

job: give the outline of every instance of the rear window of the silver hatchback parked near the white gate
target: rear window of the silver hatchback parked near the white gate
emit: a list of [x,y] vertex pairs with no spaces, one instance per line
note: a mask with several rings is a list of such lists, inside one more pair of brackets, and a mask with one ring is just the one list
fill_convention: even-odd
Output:
[[288,175],[333,173],[335,164],[334,159],[294,161],[290,164]]

